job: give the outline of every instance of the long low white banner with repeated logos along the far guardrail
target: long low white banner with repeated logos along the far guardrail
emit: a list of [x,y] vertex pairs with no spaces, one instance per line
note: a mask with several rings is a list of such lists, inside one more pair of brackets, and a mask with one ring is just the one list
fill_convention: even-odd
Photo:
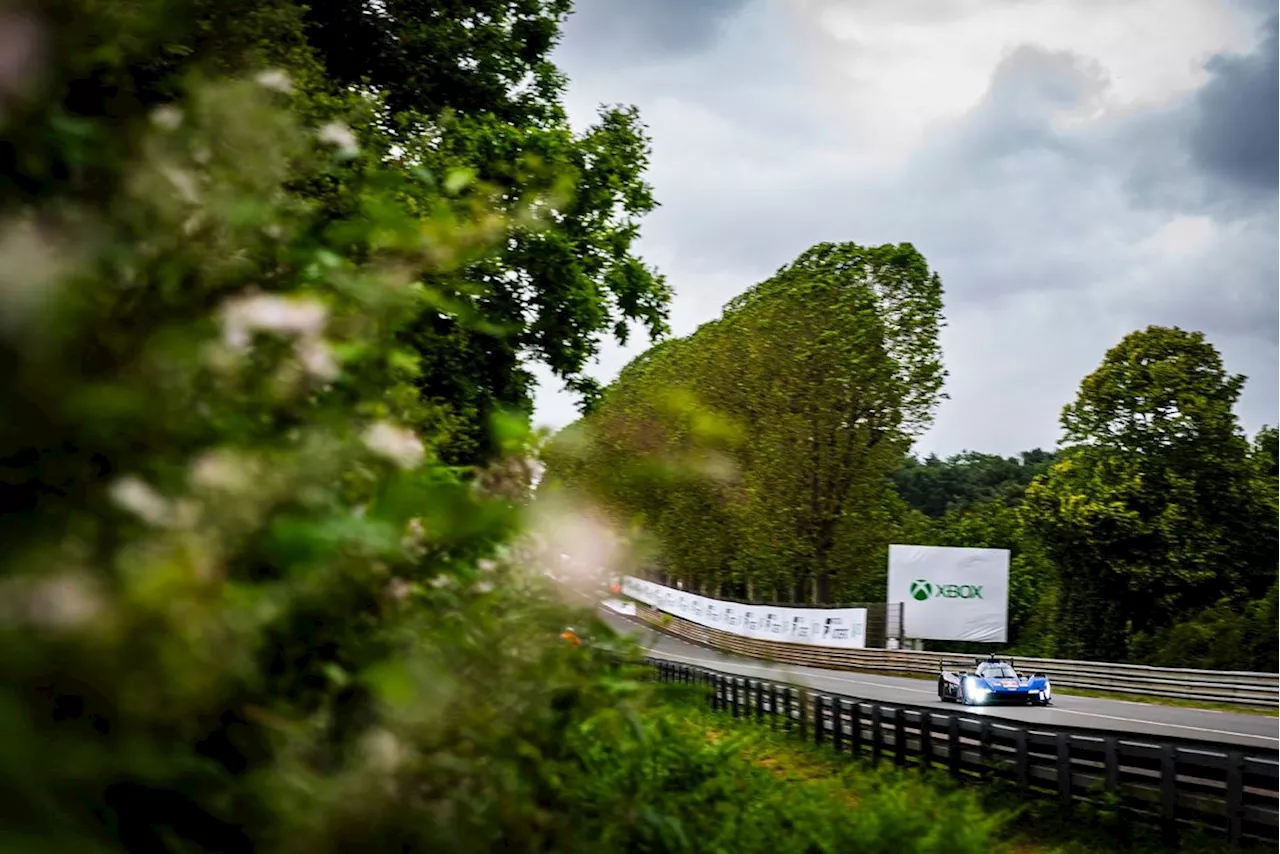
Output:
[[867,608],[786,608],[708,599],[634,576],[622,593],[673,617],[744,638],[810,647],[867,647]]

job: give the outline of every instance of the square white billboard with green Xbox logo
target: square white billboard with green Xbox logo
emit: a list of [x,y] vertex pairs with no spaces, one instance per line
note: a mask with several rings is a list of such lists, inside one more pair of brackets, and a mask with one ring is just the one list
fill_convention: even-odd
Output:
[[908,638],[1005,643],[1009,549],[890,545],[887,598]]

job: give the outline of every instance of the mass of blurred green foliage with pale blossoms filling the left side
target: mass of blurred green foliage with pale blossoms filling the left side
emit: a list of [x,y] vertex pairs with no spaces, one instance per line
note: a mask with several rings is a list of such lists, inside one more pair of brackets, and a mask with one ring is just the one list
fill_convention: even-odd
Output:
[[435,15],[421,102],[342,12],[0,5],[4,850],[627,846],[627,647],[516,535],[522,360],[663,325],[643,129],[568,129],[564,4]]

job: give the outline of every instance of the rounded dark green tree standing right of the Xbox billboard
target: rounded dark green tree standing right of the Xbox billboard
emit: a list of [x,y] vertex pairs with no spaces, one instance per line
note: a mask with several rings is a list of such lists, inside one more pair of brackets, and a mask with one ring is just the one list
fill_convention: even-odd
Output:
[[1201,333],[1148,326],[1112,347],[1062,411],[1062,460],[1023,519],[1060,575],[1064,653],[1123,659],[1134,635],[1270,586],[1244,378]]

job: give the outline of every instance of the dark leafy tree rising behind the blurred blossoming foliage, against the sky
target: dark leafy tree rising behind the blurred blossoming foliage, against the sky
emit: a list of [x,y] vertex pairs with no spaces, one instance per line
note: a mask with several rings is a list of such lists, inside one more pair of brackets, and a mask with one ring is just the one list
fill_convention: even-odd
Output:
[[544,200],[539,222],[511,229],[502,251],[442,277],[435,284],[451,302],[404,330],[421,355],[420,393],[456,410],[443,453],[458,463],[492,456],[486,424],[498,411],[531,408],[529,360],[548,365],[589,407],[599,389],[584,367],[602,339],[625,342],[632,324],[650,335],[667,328],[669,289],[632,250],[657,204],[644,181],[649,141],[640,117],[635,108],[604,108],[575,133],[562,104],[566,78],[550,52],[571,6],[305,6],[307,41],[337,90],[379,105],[365,136],[381,156],[474,182],[499,211]]

